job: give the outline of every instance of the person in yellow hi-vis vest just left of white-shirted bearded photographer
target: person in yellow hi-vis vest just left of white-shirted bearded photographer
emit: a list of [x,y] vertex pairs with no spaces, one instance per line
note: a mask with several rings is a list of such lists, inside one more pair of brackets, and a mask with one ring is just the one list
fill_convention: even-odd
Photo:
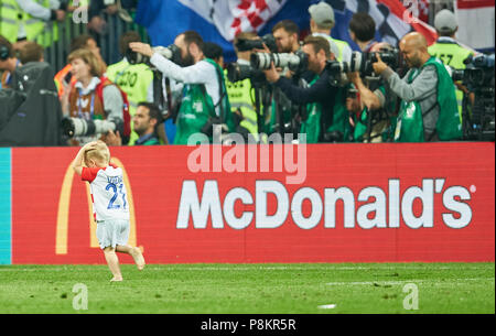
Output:
[[[153,73],[147,64],[131,64],[126,55],[129,55],[129,43],[141,42],[137,32],[127,32],[120,36],[119,52],[123,56],[122,61],[107,67],[107,77],[117,84],[127,95],[129,100],[129,113],[134,116],[140,101],[147,100],[150,86],[153,84]],[[131,130],[133,123],[131,122]],[[136,132],[131,132],[129,144],[133,144],[138,139]]]

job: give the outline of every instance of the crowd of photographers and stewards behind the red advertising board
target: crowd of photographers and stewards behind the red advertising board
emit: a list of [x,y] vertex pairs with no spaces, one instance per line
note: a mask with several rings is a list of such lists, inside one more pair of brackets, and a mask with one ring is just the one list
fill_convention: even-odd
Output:
[[[136,2],[83,4],[89,6],[88,24],[98,33],[105,25],[98,12],[128,20],[126,9]],[[2,0],[1,6],[0,90],[9,88],[18,67],[43,62],[46,41],[57,39],[56,22],[77,9],[56,0]],[[142,43],[136,32],[122,34],[122,59],[110,65],[91,35],[76,36],[67,65],[54,77],[62,112],[76,124],[65,142],[188,144],[213,141],[216,132],[226,143],[238,142],[235,136],[267,143],[287,133],[306,143],[463,140],[462,101],[471,93],[450,72],[463,69],[474,52],[455,40],[452,12],[436,14],[439,40],[431,46],[417,32],[398,45],[377,42],[373,18],[356,13],[349,34],[360,53],[331,37],[331,6],[313,4],[309,13],[310,34],[303,40],[289,20],[273,26],[272,40],[238,34],[234,64],[225,64],[223,50],[194,31],[162,48]],[[369,68],[354,67],[363,58]],[[268,59],[268,65],[257,67],[254,59]],[[91,124],[90,131],[78,131],[77,120]]]

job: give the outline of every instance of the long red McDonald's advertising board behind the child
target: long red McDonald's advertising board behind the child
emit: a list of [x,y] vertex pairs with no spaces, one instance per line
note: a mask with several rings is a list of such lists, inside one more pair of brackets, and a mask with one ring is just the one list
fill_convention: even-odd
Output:
[[[494,261],[494,143],[110,151],[148,263]],[[76,152],[0,149],[0,263],[105,263]]]

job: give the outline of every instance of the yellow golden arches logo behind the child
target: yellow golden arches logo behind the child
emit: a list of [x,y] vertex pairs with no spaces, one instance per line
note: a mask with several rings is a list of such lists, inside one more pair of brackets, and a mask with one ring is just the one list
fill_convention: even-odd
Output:
[[[128,203],[130,212],[130,231],[129,245],[136,246],[136,217],[134,217],[134,202],[132,199],[131,184],[129,183],[128,174],[119,159],[112,158],[111,162],[122,169],[123,183],[128,192]],[[58,198],[57,226],[55,234],[55,254],[67,254],[67,239],[68,239],[68,217],[71,206],[71,192],[73,189],[74,170],[68,165],[65,171],[64,180],[62,182],[61,195]],[[98,248],[98,239],[96,238],[96,223],[93,217],[93,200],[89,184],[86,185],[86,196],[88,202],[89,213],[89,247]]]

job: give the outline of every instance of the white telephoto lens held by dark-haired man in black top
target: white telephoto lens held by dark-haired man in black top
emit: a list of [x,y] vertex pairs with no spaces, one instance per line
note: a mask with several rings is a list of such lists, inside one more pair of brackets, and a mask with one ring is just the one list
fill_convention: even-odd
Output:
[[250,57],[251,66],[260,71],[269,69],[272,62],[276,67],[288,67],[293,73],[300,74],[308,69],[309,56],[298,51],[294,54],[255,53]]

